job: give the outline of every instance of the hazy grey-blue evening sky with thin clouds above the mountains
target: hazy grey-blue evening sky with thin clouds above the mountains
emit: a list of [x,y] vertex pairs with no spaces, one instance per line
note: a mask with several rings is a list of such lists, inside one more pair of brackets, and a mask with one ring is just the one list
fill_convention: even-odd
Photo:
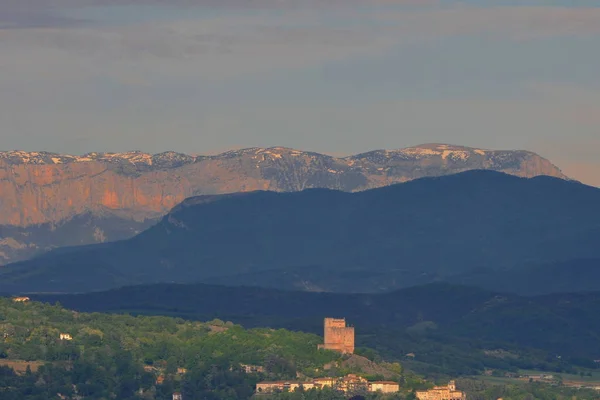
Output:
[[2,0],[0,150],[450,143],[600,186],[600,2]]

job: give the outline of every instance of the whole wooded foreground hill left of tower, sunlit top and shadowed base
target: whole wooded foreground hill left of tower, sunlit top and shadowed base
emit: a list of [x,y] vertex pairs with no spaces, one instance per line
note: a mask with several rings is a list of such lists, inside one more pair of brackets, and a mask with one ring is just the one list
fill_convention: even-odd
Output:
[[[336,373],[337,353],[317,350],[322,338],[283,329],[244,329],[221,320],[88,314],[59,305],[0,298],[0,398],[248,399],[262,379]],[[3,365],[34,370],[15,375]],[[241,364],[264,368],[247,374]],[[386,368],[399,379],[398,365]],[[337,373],[343,371],[338,370]]]

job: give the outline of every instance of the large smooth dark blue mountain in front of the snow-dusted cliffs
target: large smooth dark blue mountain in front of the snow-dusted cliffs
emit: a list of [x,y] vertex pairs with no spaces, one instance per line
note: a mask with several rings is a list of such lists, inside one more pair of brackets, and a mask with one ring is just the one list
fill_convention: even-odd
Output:
[[359,193],[199,196],[130,240],[5,267],[0,290],[204,281],[380,292],[599,258],[598,204],[597,188],[493,171]]

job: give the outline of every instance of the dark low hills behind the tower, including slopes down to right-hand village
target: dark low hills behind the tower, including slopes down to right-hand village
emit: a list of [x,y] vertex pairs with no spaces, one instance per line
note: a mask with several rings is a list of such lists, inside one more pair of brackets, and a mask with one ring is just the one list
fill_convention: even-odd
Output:
[[[159,284],[31,297],[80,311],[219,317],[248,327],[315,334],[322,332],[323,315],[343,316],[355,326],[359,346],[429,373],[594,368],[593,360],[600,359],[600,292],[520,297],[435,284],[382,294],[337,294]],[[408,353],[415,354],[414,360],[406,359]]]

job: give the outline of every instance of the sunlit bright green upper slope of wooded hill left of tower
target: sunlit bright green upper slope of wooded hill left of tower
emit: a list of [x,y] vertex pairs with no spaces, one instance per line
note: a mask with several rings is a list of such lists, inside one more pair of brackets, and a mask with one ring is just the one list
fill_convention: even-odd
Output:
[[[336,353],[317,351],[317,344],[322,342],[317,335],[258,328],[246,330],[220,320],[203,323],[158,316],[88,314],[31,301],[14,303],[10,298],[0,298],[0,315],[0,331],[7,334],[5,339],[10,338],[2,342],[3,358],[66,360],[68,352],[81,345],[90,356],[103,351],[104,346],[123,345],[123,350],[129,351],[140,364],[160,364],[175,357],[178,367],[192,367],[199,358],[205,362],[219,358],[231,364],[264,365],[268,354],[263,350],[268,347],[272,348],[273,355],[287,355],[298,368],[322,366],[339,358]],[[60,333],[69,334],[72,340],[61,342]],[[161,349],[165,344],[179,350],[166,354]],[[60,351],[49,354],[41,345],[55,346]]]

